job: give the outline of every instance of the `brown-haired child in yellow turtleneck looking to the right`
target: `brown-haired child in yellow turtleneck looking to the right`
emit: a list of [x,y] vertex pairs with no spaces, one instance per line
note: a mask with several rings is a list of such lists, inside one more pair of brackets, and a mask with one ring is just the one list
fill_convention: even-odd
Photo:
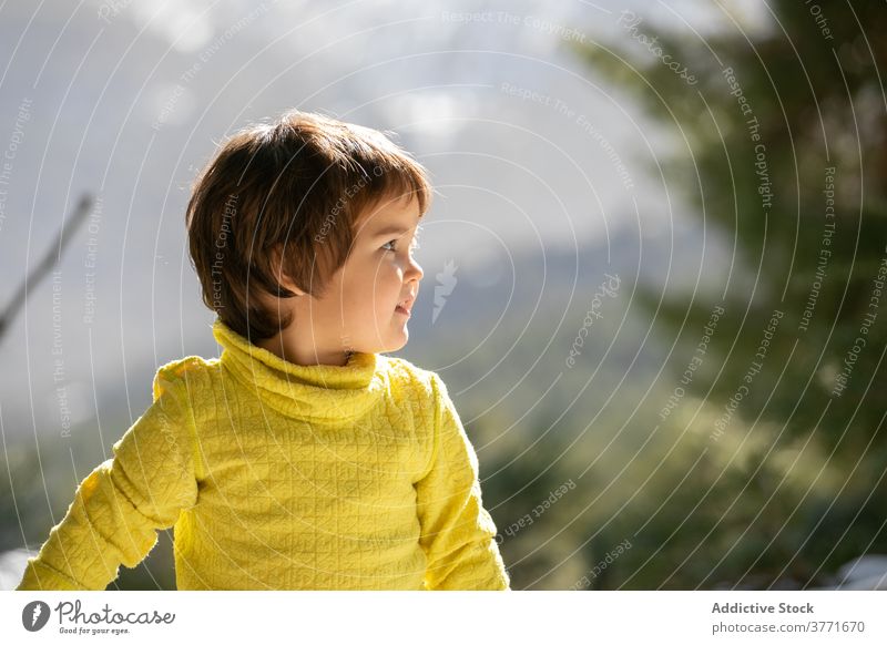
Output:
[[20,590],[103,590],[175,526],[180,590],[509,590],[478,460],[407,342],[431,197],[381,133],[290,112],[239,132],[187,206],[220,358],[80,484]]

